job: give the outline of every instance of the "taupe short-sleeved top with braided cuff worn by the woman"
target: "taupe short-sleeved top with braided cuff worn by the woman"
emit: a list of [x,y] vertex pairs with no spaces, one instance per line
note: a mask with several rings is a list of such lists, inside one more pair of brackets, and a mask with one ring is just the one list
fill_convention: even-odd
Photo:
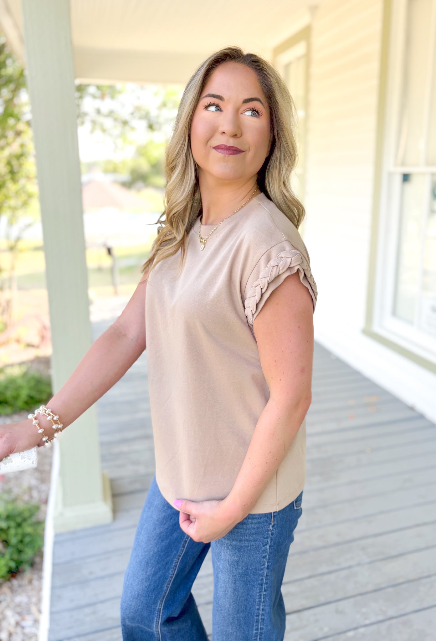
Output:
[[[298,270],[317,290],[298,229],[261,193],[224,220],[200,249],[199,221],[187,255],[158,263],[146,290],[146,353],[163,496],[224,499],[237,478],[269,399],[253,320],[267,297]],[[215,225],[202,225],[206,237]],[[281,510],[306,480],[306,422],[250,513]]]

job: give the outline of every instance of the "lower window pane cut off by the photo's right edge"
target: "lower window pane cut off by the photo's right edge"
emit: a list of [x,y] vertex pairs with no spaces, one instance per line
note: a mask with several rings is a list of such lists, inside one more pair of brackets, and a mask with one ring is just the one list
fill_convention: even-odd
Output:
[[436,336],[436,175],[432,177],[432,198],[424,240],[423,290],[420,328]]

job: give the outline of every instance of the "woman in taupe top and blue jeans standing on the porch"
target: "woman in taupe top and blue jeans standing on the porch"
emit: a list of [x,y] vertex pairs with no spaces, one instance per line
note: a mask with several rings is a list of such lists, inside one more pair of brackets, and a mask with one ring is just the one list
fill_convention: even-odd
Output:
[[[284,637],[317,297],[289,186],[293,114],[262,58],[228,47],[200,65],[144,277],[48,404],[67,426],[147,347],[156,475],[124,576],[124,641],[206,641],[191,587],[209,547],[214,641]],[[29,422],[3,429],[12,451],[38,442]]]

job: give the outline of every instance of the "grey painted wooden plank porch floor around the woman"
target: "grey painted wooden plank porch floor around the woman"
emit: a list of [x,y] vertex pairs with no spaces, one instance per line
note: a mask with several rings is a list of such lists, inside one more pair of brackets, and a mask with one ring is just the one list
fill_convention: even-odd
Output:
[[[93,322],[94,340],[126,302]],[[55,536],[49,641],[122,639],[122,579],[154,474],[146,353],[97,412],[115,520]],[[319,344],[306,424],[285,638],[435,641],[436,426]],[[209,551],[192,589],[209,638],[212,590]]]

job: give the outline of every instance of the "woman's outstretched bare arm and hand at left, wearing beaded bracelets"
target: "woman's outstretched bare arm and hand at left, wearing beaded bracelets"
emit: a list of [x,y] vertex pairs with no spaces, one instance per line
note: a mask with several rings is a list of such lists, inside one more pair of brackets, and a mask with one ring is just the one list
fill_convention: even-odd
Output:
[[[140,279],[121,315],[94,341],[65,385],[46,403],[59,415],[63,429],[115,385],[146,349],[146,277]],[[52,426],[44,415],[38,415],[38,422],[44,429]],[[53,429],[45,433],[51,435]],[[44,445],[44,441],[31,420],[0,426],[0,460],[35,445]]]

